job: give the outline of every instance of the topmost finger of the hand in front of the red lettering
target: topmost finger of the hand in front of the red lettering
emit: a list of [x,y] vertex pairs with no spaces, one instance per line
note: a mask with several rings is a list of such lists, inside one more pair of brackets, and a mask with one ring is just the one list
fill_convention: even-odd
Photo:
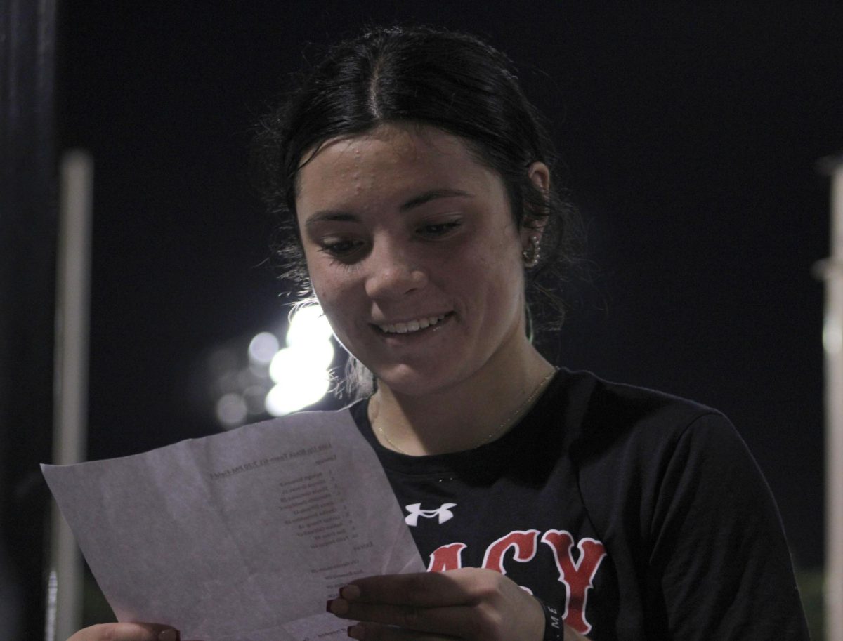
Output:
[[[352,581],[340,590],[346,601],[419,607],[459,606],[480,601],[496,589],[496,578],[476,568],[449,572],[384,574]],[[492,573],[493,574],[493,573]]]

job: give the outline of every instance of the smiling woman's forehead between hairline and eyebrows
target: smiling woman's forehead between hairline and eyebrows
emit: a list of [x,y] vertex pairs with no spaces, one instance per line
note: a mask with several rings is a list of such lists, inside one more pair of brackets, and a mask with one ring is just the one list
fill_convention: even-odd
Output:
[[299,210],[355,195],[502,189],[497,174],[478,162],[461,138],[429,126],[382,125],[359,136],[331,139],[305,158],[298,172]]

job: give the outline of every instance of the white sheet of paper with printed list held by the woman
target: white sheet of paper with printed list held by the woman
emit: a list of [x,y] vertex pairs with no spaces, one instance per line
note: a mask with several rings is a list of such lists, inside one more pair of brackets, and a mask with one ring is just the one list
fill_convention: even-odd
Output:
[[338,588],[425,569],[345,410],[42,470],[117,619],[181,638],[346,638]]

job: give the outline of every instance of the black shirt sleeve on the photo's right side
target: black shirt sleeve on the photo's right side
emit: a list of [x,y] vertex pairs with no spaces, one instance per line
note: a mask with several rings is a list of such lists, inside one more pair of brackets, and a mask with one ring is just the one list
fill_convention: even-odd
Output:
[[668,638],[808,639],[776,504],[722,415],[701,416],[679,435],[649,539],[647,609]]

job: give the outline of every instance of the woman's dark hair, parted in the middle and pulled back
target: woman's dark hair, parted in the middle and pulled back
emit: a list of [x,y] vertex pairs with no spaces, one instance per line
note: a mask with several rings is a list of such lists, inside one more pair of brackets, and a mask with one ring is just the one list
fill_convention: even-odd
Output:
[[[564,307],[557,291],[578,263],[581,234],[575,208],[556,185],[550,136],[507,56],[474,36],[441,29],[376,29],[334,46],[260,121],[253,158],[258,188],[293,231],[277,248],[284,275],[307,287],[295,222],[299,168],[324,142],[387,122],[459,136],[478,162],[501,176],[518,227],[543,227],[528,291],[546,295],[553,308],[548,318],[556,319],[550,324],[558,326]],[[547,194],[529,179],[535,162],[550,168]]]

